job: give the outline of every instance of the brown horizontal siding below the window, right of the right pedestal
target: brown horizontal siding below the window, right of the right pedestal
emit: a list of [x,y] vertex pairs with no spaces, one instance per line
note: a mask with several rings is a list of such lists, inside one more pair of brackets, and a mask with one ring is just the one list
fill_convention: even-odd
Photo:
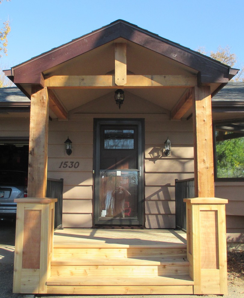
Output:
[[226,232],[228,249],[244,249],[244,182],[215,182],[215,197],[227,199]]

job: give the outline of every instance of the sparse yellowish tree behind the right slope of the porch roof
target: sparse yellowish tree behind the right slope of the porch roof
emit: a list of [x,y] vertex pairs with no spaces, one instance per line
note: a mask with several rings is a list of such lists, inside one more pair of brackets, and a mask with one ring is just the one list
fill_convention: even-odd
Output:
[[205,47],[200,46],[196,49],[196,51],[203,55],[208,55],[211,58],[220,61],[221,63],[229,65],[230,67],[233,67],[234,65],[236,65],[236,68],[239,68],[240,70],[231,81],[244,82],[244,65],[238,62],[236,54],[231,53],[230,49],[231,48],[229,45],[227,45],[225,48],[218,46],[216,52],[210,51],[210,53],[208,53]]

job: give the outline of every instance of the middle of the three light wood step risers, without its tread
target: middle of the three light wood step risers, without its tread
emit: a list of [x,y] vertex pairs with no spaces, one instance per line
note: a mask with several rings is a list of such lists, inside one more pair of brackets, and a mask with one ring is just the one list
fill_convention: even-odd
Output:
[[179,265],[154,265],[154,266],[54,266],[51,268],[52,276],[118,276],[118,277],[138,277],[138,276],[185,276],[189,274],[189,263]]

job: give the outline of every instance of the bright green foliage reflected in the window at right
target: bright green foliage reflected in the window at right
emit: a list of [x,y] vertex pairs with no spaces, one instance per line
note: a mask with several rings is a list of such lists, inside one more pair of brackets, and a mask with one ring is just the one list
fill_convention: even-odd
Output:
[[[216,132],[218,137],[219,132]],[[244,177],[244,137],[216,142],[218,178]]]

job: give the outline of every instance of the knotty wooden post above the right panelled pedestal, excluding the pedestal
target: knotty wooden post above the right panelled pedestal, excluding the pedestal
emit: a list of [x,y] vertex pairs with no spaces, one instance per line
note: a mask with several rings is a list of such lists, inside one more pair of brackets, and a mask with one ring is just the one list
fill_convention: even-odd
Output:
[[195,87],[193,99],[195,196],[214,197],[210,86]]

